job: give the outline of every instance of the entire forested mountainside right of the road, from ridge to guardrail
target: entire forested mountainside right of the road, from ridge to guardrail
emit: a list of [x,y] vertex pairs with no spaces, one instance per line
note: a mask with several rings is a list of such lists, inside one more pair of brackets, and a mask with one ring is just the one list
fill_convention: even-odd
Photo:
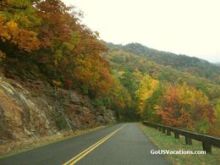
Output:
[[[214,130],[209,124],[216,121],[216,117],[219,120],[220,67],[205,60],[161,52],[137,43],[107,45],[109,51],[103,57],[129,91],[133,109],[141,118],[154,122],[162,120],[168,125],[202,132],[206,132],[208,127]],[[202,102],[206,105],[202,105]],[[201,105],[197,107],[197,103]],[[193,118],[193,111],[209,117],[197,121]],[[193,116],[190,117],[190,114]],[[191,125],[184,125],[186,121]]]

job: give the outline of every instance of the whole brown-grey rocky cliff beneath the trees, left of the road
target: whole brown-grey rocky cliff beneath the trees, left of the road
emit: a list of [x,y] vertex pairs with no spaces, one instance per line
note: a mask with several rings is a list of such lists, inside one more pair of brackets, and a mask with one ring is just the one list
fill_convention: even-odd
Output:
[[94,107],[76,91],[0,77],[0,144],[114,121],[111,110]]

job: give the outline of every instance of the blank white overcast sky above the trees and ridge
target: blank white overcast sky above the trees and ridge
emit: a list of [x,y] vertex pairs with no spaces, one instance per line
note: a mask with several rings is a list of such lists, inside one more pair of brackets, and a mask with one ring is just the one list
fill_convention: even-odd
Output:
[[220,0],[63,0],[101,39],[220,62]]

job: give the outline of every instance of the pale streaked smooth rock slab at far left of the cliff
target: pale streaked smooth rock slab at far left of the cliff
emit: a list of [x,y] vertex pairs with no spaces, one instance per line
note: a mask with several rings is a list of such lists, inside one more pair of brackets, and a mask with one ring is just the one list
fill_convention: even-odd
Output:
[[13,83],[16,87],[5,79],[0,80],[0,120],[3,121],[1,127],[4,129],[4,133],[0,130],[1,138],[21,139],[54,132],[44,111],[49,106],[39,100],[40,105],[45,107],[41,109],[29,91]]

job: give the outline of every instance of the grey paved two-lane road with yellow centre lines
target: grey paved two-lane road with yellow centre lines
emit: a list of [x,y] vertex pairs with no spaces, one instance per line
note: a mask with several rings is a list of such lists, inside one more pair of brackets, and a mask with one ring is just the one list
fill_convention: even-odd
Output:
[[0,159],[0,165],[167,165],[135,123],[117,124],[86,135]]

